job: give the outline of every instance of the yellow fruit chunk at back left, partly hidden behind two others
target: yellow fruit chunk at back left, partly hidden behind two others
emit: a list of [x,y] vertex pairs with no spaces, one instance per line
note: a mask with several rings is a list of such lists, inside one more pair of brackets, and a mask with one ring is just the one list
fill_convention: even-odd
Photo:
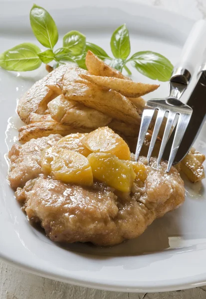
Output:
[[55,148],[56,151],[58,149],[74,150],[74,151],[77,151],[77,152],[83,154],[85,157],[87,157],[91,153],[91,150],[89,150],[87,147],[85,147],[82,144],[82,139],[87,135],[88,135],[88,133],[85,133],[85,134],[82,134],[82,133],[70,134],[68,136],[65,136],[65,137],[61,138],[56,143],[54,148]]

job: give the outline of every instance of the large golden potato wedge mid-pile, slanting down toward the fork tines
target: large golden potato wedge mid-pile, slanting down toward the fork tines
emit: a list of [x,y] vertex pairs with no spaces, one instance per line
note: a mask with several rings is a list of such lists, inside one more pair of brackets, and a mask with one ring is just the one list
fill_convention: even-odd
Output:
[[70,67],[63,76],[60,88],[69,101],[77,101],[111,118],[128,124],[140,125],[138,110],[131,101],[113,90],[105,90],[80,77],[87,71]]

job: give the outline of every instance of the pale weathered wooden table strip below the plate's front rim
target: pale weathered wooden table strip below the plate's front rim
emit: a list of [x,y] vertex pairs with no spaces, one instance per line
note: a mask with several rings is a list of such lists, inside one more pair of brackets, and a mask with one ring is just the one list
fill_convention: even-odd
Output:
[[118,293],[76,287],[0,262],[0,299],[206,299],[206,286],[167,293]]

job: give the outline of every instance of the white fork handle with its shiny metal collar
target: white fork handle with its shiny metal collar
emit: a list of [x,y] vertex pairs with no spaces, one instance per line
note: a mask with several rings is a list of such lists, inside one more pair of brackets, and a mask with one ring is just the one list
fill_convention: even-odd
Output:
[[199,20],[185,42],[180,60],[176,64],[171,77],[172,82],[188,84],[195,72],[196,65],[205,50],[206,21]]

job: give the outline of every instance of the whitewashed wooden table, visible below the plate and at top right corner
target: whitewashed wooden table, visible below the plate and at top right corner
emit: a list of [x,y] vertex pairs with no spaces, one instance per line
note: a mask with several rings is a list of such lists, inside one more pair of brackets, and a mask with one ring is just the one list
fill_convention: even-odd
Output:
[[[134,0],[135,1],[135,0]],[[206,0],[141,0],[185,16],[206,18]],[[0,299],[206,299],[206,287],[167,293],[118,293],[71,286],[0,262]]]

